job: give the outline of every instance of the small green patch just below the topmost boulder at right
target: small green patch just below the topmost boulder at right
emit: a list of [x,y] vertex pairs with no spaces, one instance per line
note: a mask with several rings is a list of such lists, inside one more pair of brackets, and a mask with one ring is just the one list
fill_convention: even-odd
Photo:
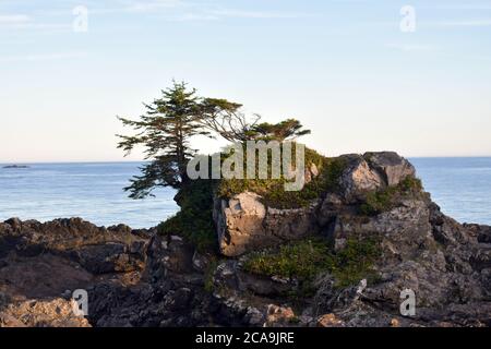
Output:
[[376,216],[391,210],[398,200],[418,195],[422,189],[420,179],[408,176],[398,185],[368,193],[366,202],[360,206],[360,213],[366,216]]

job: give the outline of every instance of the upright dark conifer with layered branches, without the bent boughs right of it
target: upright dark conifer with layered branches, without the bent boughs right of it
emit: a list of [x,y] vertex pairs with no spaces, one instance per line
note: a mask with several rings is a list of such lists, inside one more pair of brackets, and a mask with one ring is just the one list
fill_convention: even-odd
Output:
[[190,139],[209,135],[199,122],[201,99],[195,89],[188,89],[185,83],[173,82],[161,94],[160,98],[145,105],[146,113],[139,120],[118,118],[136,132],[118,135],[118,147],[128,155],[135,146],[143,146],[145,159],[149,160],[141,167],[141,176],[133,177],[131,185],[124,188],[133,198],[152,195],[157,186],[181,188],[188,181],[187,164],[195,154],[190,147]]

